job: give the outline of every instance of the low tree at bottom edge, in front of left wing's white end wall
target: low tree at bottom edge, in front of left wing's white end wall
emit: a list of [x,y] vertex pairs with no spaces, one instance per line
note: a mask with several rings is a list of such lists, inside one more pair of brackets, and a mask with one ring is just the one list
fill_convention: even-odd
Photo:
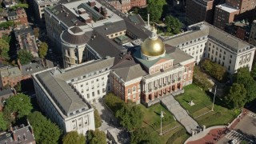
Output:
[[67,133],[62,139],[63,144],[85,144],[86,137],[83,134],[78,134],[78,131]]

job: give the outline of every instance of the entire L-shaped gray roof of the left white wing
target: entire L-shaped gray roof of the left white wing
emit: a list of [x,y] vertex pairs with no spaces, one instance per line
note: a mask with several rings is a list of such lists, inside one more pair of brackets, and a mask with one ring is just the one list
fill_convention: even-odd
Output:
[[113,66],[113,63],[114,58],[102,59],[87,64],[84,63],[80,66],[74,66],[66,70],[54,68],[39,73],[36,77],[40,80],[39,82],[42,83],[42,86],[45,87],[50,97],[53,98],[59,109],[62,110],[62,113],[67,115],[70,112],[82,108],[88,110],[89,106],[79,98],[78,94],[66,81]]

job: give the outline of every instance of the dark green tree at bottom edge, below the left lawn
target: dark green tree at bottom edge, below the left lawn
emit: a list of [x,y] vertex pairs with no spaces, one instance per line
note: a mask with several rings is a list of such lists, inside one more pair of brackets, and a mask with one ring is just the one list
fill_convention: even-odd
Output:
[[158,137],[154,137],[152,131],[140,128],[130,133],[130,143],[159,143]]

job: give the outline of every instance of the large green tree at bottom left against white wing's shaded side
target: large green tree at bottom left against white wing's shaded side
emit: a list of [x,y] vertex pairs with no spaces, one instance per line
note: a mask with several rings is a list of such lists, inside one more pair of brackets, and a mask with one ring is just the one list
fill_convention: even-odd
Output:
[[57,144],[62,131],[58,126],[50,122],[40,112],[35,111],[28,116],[31,126],[33,126],[34,137],[37,143],[42,144]]

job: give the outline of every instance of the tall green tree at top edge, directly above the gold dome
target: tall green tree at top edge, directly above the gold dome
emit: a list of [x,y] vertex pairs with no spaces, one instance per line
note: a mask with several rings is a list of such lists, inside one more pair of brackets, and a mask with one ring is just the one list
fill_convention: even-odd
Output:
[[165,0],[148,0],[147,11],[150,14],[150,20],[158,22],[162,16],[163,6],[166,5]]

